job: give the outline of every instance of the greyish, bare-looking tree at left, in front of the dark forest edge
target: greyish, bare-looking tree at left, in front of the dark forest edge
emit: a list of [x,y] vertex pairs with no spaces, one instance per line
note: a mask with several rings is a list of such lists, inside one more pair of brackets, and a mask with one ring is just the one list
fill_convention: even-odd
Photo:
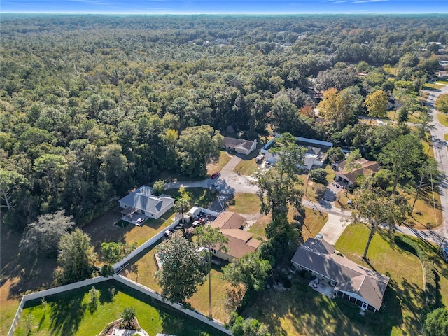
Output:
[[36,255],[56,255],[62,235],[73,225],[73,217],[65,216],[64,210],[38,216],[36,222],[27,225],[27,231],[20,239],[19,246]]

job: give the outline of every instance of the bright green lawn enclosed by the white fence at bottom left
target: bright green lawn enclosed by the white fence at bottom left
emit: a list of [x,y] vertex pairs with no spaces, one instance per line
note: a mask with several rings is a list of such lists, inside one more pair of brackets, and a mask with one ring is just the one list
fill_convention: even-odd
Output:
[[[109,288],[116,286],[117,293],[111,297]],[[31,314],[32,335],[97,335],[107,323],[120,317],[125,307],[134,307],[141,328],[149,335],[163,332],[172,335],[223,335],[218,330],[180,314],[136,290],[126,288],[116,281],[98,283],[99,305],[90,311],[88,290],[80,288],[68,293],[45,297],[48,302],[44,311],[40,300],[22,311],[22,320],[15,335],[29,335],[23,319]]]

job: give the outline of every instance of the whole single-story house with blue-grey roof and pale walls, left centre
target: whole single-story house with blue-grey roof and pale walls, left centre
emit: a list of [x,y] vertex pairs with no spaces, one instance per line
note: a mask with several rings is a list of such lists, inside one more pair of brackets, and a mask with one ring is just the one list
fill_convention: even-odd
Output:
[[118,201],[122,216],[142,214],[150,218],[160,218],[174,206],[174,198],[167,195],[153,195],[153,188],[141,186]]

